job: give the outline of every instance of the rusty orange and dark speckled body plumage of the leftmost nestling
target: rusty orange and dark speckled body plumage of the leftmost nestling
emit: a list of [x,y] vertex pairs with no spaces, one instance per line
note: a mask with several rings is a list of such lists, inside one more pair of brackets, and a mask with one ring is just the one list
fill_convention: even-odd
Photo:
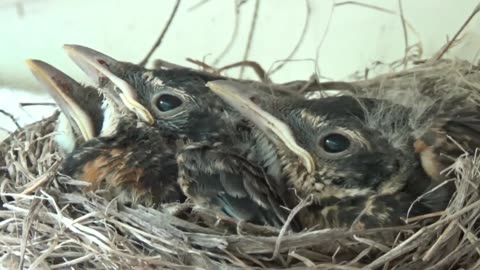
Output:
[[118,133],[80,145],[61,172],[107,188],[121,201],[159,205],[183,201],[177,184],[175,142],[149,126],[120,122]]

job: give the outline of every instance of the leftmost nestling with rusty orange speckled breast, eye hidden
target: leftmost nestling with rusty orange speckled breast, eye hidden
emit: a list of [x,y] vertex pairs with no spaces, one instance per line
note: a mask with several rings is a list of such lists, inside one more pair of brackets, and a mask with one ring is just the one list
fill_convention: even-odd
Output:
[[123,202],[158,206],[184,200],[174,141],[122,108],[115,93],[107,93],[104,102],[95,88],[55,67],[39,60],[28,63],[84,140],[67,155],[62,173],[89,182],[90,189],[107,188]]

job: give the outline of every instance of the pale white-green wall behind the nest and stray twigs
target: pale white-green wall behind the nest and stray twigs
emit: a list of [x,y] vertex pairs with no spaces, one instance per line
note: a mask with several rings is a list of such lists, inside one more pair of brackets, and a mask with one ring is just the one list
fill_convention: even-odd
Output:
[[[211,63],[232,36],[234,0],[183,0],[167,36],[153,58],[192,66],[186,57]],[[238,2],[238,1],[237,1]],[[398,0],[358,1],[397,15],[342,1],[309,0],[309,28],[294,59],[273,75],[275,82],[321,76],[347,79],[374,61],[391,62],[404,55],[404,36]],[[285,59],[297,43],[306,20],[302,0],[261,0],[249,59],[266,69]],[[22,110],[18,102],[48,100],[24,64],[27,58],[45,60],[73,77],[88,82],[61,49],[65,43],[92,47],[116,59],[138,62],[153,45],[175,4],[173,0],[0,0],[0,108],[19,121],[31,122],[50,114],[46,108]],[[478,4],[477,0],[403,0],[410,45],[421,41],[428,57],[452,37]],[[240,8],[240,28],[234,46],[218,66],[243,58],[255,0]],[[480,19],[474,19],[460,46],[448,57],[476,61],[480,49]],[[328,30],[328,31],[327,31]],[[323,42],[322,42],[323,40]],[[239,69],[227,74],[238,76]],[[251,73],[248,73],[251,77]],[[20,90],[24,89],[24,90]],[[14,126],[0,116],[0,127]]]

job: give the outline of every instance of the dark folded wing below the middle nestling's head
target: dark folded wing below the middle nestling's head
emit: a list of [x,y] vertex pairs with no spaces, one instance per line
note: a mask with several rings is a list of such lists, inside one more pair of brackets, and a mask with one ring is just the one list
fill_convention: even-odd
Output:
[[178,157],[179,184],[194,203],[257,224],[281,227],[281,199],[261,168],[223,145],[188,145]]

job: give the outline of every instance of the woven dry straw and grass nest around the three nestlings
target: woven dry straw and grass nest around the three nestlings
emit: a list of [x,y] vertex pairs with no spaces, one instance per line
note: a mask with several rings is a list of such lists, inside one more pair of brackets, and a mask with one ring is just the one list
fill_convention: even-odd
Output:
[[[442,61],[352,85],[363,95],[378,89],[435,97],[472,92],[465,102],[478,103],[480,72],[468,63]],[[188,203],[160,210],[129,207],[106,201],[101,191],[82,192],[84,182],[57,173],[61,157],[52,141],[57,116],[24,127],[1,146],[5,268],[480,269],[476,156],[461,156],[452,166],[457,192],[444,212],[433,214],[438,217],[433,223],[290,233],[218,219],[206,210],[191,211]],[[397,237],[379,237],[385,233]]]

